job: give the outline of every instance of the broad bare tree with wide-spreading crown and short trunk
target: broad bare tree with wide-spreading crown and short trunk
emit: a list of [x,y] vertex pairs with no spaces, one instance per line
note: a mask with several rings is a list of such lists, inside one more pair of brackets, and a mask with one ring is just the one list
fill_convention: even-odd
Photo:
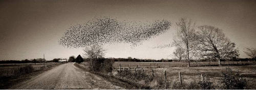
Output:
[[210,26],[203,25],[198,27],[198,43],[199,49],[206,52],[204,55],[208,57],[215,57],[218,59],[221,66],[221,59],[230,59],[239,56],[239,51],[236,44],[232,43],[222,30]]

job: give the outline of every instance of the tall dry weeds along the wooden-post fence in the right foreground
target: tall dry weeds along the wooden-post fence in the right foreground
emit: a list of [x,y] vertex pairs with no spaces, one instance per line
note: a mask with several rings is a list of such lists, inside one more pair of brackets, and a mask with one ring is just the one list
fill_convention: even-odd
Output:
[[[228,83],[228,85],[230,86],[234,86],[236,88],[237,87],[244,88],[246,86],[245,84],[243,84],[245,82],[244,81],[245,79],[243,79],[243,77],[240,77],[242,76],[242,74],[240,73],[235,74],[235,72],[229,72],[228,70],[224,70],[224,72],[219,73],[219,75],[216,75],[217,73],[215,73],[215,75],[220,78],[211,78],[212,77],[211,75],[202,73],[202,72],[186,73],[186,71],[166,72],[165,70],[163,71],[159,71],[159,70],[160,69],[123,68],[123,69],[116,69],[115,72],[113,72],[113,74],[114,76],[121,78],[124,81],[135,82],[135,84],[138,84],[139,86],[143,86],[143,85],[145,87],[150,86],[150,89],[214,89],[214,88],[230,89],[229,87],[222,88],[222,86],[225,86],[225,85],[220,84],[222,83],[222,81],[226,81],[226,80],[233,81],[233,80],[230,80],[229,78],[236,78],[236,80],[234,80],[235,81],[234,83],[239,83],[239,84]],[[227,75],[229,73],[233,73],[233,74]],[[235,77],[233,77],[234,75]],[[243,81],[243,83],[241,81]],[[250,87],[245,87],[245,88],[250,88]]]

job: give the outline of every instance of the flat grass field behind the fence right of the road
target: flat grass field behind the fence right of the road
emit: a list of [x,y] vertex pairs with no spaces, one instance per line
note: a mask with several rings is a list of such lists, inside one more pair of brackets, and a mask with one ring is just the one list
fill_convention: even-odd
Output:
[[[220,72],[225,71],[226,67],[229,67],[235,72],[240,72],[240,74],[243,76],[243,78],[247,81],[247,89],[255,89],[256,88],[256,65],[254,62],[225,62],[225,65],[223,66],[215,66],[218,63],[217,62],[211,62],[210,66],[209,62],[197,62],[194,65],[199,65],[201,67],[193,67],[193,63],[190,62],[190,66],[187,67],[186,62],[158,62],[158,63],[149,63],[149,62],[115,62],[114,67],[116,70],[119,69],[119,64],[122,68],[136,68],[138,65],[138,68],[143,68],[144,72],[147,74],[152,74],[152,70],[154,73],[163,76],[163,72],[166,71],[167,79],[177,81],[179,80],[179,72],[182,74],[182,79],[184,81],[193,81],[193,80],[201,80],[201,74],[206,74],[210,81],[214,82],[214,84],[218,84],[218,81],[220,81]],[[151,64],[152,68],[149,68]],[[237,65],[239,64],[239,65]],[[183,67],[181,67],[183,65]],[[156,67],[160,68],[156,68]],[[164,68],[163,68],[164,66]],[[134,69],[131,69],[134,71]]]

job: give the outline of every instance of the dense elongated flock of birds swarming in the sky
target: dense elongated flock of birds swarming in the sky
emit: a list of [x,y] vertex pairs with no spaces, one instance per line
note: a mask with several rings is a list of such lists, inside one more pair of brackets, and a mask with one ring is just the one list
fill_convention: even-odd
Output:
[[113,43],[137,46],[166,32],[171,25],[168,20],[145,23],[118,21],[112,17],[94,18],[84,24],[70,26],[59,44],[72,48]]

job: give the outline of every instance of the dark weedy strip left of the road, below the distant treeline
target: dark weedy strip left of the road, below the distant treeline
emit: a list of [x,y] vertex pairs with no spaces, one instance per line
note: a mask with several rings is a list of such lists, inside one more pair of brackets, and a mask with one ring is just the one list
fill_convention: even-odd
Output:
[[22,74],[36,72],[45,68],[50,68],[50,67],[58,66],[61,64],[66,64],[66,63],[46,64],[45,66],[39,66],[39,67],[37,66],[33,67],[32,65],[26,65],[22,67],[17,66],[18,68],[2,70],[2,72],[0,73],[0,77],[18,77]]

